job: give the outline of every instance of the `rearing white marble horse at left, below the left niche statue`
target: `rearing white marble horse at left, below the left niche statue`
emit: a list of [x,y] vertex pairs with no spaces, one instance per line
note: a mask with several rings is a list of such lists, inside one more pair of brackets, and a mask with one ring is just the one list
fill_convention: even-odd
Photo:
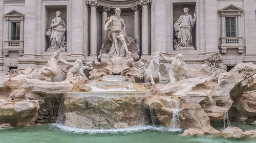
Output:
[[42,67],[39,70],[39,74],[42,74],[46,77],[50,77],[52,82],[54,82],[55,76],[58,74],[58,58],[60,55],[60,51],[57,50],[53,52],[53,54],[50,56],[50,59],[48,60],[45,67]]

